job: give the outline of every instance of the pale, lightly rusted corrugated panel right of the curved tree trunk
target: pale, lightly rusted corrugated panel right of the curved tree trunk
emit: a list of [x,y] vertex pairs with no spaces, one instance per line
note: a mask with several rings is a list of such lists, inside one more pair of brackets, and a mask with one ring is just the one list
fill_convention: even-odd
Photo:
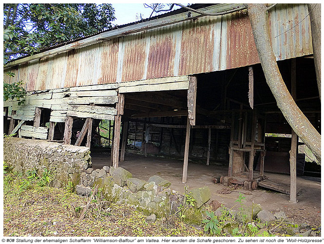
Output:
[[277,60],[313,53],[306,4],[277,4],[270,11],[273,51]]

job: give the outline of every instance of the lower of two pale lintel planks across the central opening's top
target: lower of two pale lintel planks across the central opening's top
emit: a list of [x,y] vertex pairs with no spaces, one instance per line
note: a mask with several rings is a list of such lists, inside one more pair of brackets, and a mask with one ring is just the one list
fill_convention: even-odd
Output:
[[145,92],[145,91],[171,91],[171,90],[187,90],[189,81],[162,83],[162,84],[142,84],[135,86],[119,87],[119,93],[128,92]]

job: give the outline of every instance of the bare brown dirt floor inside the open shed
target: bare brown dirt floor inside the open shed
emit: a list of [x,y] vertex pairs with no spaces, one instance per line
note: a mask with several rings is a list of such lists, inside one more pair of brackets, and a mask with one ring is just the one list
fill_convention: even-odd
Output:
[[[93,168],[101,168],[110,164],[110,155],[105,153],[92,154]],[[184,192],[185,184],[182,183],[183,162],[159,157],[145,158],[141,155],[128,154],[125,161],[119,163],[133,174],[133,177],[148,180],[153,175],[158,175],[172,183],[171,188]],[[187,185],[189,190],[195,187],[208,186],[211,192],[211,200],[217,200],[226,207],[236,209],[235,203],[238,196],[243,193],[246,197],[245,205],[252,202],[260,203],[263,209],[271,212],[286,213],[286,216],[295,224],[309,224],[319,226],[321,224],[321,178],[297,177],[297,187],[301,191],[297,195],[298,203],[289,202],[289,195],[258,187],[257,190],[248,191],[242,187],[234,189],[233,186],[224,186],[213,183],[215,176],[226,176],[227,166],[202,165],[189,162]],[[265,173],[269,180],[289,184],[289,175]]]

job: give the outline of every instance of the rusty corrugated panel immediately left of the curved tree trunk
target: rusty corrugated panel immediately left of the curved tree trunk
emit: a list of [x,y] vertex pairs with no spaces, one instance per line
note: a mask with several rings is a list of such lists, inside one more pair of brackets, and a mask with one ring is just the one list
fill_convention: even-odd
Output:
[[231,14],[227,23],[227,69],[260,62],[247,11]]

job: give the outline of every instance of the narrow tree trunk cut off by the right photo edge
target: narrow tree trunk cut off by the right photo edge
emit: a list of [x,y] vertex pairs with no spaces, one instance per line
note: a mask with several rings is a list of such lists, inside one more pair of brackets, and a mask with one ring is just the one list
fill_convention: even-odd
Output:
[[321,3],[307,3],[318,91],[321,100]]

